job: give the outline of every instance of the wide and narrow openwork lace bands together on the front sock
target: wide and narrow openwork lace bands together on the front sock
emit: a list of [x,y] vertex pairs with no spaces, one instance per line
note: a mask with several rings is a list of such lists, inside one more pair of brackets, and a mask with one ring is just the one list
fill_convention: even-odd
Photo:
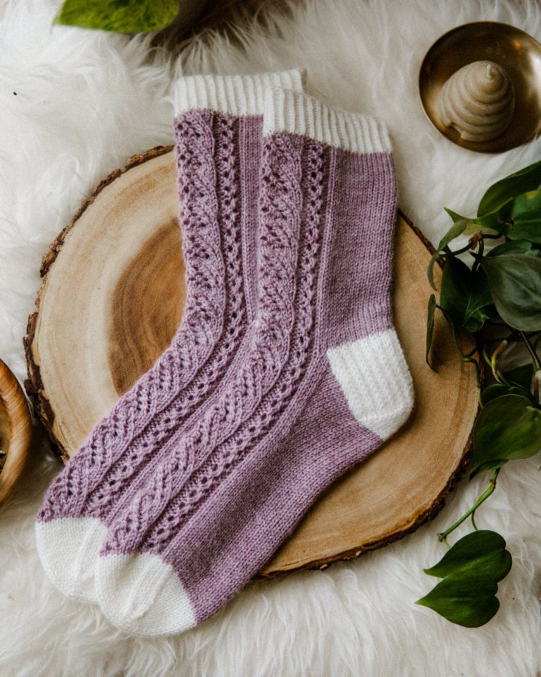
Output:
[[[168,508],[185,487],[187,478],[211,457],[206,471],[198,477],[205,488],[207,484],[211,487],[220,470],[225,470],[226,466],[232,468],[232,459],[221,449],[217,450],[218,446],[240,430],[244,448],[247,448],[251,439],[263,433],[261,417],[270,420],[271,410],[279,410],[286,392],[300,377],[301,367],[293,362],[303,362],[310,348],[308,337],[313,322],[323,176],[322,152],[317,144],[309,146],[306,161],[310,171],[303,172],[300,153],[303,144],[300,137],[275,135],[267,139],[263,147],[260,315],[249,354],[220,401],[206,411],[181,444],[170,450],[167,462],[156,469],[152,481],[130,503],[123,520],[111,527],[102,548],[103,554],[141,547],[144,536],[153,526],[159,530],[160,541],[166,541],[178,524],[178,507],[173,508],[173,512]],[[295,152],[292,152],[292,145]],[[301,183],[304,174],[311,183],[309,187]],[[310,195],[305,216],[303,190],[307,190],[305,195]],[[303,220],[306,223],[301,237]],[[301,249],[299,245],[302,245]],[[292,348],[294,358],[290,362]],[[275,396],[269,398],[271,393]],[[234,453],[237,448],[238,440],[235,439]],[[217,461],[211,456],[214,453],[218,456]],[[215,466],[216,470],[213,470]],[[191,493],[194,489],[190,486],[187,491]]]

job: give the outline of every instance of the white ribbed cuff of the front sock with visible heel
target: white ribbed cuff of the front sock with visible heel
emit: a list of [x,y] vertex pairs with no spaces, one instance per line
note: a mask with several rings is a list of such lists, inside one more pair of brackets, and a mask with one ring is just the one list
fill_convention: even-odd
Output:
[[277,87],[267,90],[263,110],[263,135],[274,132],[299,134],[354,153],[392,150],[383,122]]

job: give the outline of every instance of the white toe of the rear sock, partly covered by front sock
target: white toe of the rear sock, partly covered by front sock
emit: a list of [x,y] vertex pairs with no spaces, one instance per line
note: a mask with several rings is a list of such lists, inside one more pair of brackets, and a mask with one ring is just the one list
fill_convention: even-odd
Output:
[[36,522],[39,559],[49,579],[63,594],[96,602],[94,569],[107,527],[92,517],[65,517]]

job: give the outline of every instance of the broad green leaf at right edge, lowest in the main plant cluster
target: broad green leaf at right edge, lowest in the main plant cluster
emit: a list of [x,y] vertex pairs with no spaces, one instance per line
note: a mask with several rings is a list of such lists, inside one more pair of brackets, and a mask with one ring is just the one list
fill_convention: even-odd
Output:
[[471,469],[529,458],[540,449],[541,410],[527,397],[502,395],[488,402],[475,421]]

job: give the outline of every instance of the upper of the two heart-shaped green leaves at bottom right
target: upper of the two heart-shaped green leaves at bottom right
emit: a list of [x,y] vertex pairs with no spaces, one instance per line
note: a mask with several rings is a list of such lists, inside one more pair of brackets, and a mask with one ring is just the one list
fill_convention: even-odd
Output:
[[511,563],[511,553],[505,549],[502,536],[480,529],[462,537],[437,564],[423,571],[438,578],[459,572],[477,573],[497,582],[509,573]]

